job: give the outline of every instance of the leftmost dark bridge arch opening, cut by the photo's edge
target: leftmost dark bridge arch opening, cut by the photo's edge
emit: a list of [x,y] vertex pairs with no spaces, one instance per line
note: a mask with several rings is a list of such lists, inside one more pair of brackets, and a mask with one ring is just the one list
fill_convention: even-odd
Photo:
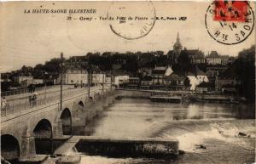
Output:
[[1,156],[7,161],[19,160],[20,144],[14,136],[9,134],[1,136]]

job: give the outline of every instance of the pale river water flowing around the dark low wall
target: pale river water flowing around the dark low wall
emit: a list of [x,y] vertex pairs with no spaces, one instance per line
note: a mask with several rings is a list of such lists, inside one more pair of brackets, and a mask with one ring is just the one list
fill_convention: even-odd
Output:
[[[176,138],[184,154],[176,160],[82,156],[83,164],[253,163],[253,105],[169,104],[119,99],[87,127],[93,136]],[[244,133],[245,136],[239,135]],[[202,144],[206,149],[199,149]]]

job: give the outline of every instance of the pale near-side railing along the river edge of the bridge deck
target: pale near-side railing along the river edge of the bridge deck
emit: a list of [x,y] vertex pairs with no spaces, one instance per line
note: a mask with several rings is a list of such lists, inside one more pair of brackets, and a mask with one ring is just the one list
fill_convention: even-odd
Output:
[[[102,88],[100,87],[94,87],[91,88],[90,93],[95,93],[96,91],[102,90]],[[62,93],[62,99],[68,99],[76,94],[81,94],[81,96],[84,96],[84,94],[88,93],[88,89],[87,88],[82,88],[82,90],[75,90],[75,91],[71,91],[68,93]],[[61,94],[55,94],[55,95],[45,95],[43,98],[41,99],[36,99],[36,100],[26,100],[23,101],[22,103],[18,103],[18,104],[14,104],[14,105],[7,105],[3,108],[1,108],[1,117],[4,116],[10,116],[10,115],[14,115],[17,113],[21,113],[23,110],[29,110],[32,108],[36,108],[38,106],[41,105],[48,105],[49,103],[54,103],[54,102],[58,102],[61,99]]]

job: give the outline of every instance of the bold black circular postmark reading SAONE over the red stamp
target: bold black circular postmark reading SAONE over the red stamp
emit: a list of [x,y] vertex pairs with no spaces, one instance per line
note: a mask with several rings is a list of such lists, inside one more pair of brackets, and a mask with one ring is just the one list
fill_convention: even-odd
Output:
[[254,27],[254,13],[249,3],[218,2],[220,1],[211,3],[205,15],[209,35],[217,42],[226,45],[245,41]]

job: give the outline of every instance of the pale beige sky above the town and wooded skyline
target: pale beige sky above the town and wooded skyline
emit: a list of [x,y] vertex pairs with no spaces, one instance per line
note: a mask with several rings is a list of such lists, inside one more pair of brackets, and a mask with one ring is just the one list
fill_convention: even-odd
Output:
[[[130,3],[130,4],[129,4]],[[145,11],[145,3],[133,2],[136,14]],[[131,5],[123,2],[122,5]],[[9,2],[0,3],[0,64],[1,72],[20,69],[22,65],[34,66],[59,57],[85,55],[88,52],[147,52],[172,50],[177,32],[183,47],[201,49],[205,54],[212,50],[219,54],[236,56],[243,48],[255,43],[255,30],[236,45],[216,42],[207,33],[205,14],[210,2],[152,2],[158,17],[187,17],[187,20],[156,20],[148,35],[134,40],[119,37],[111,31],[108,20],[67,20],[73,18],[105,17],[111,2]],[[94,8],[96,14],[24,14],[28,9]],[[109,12],[110,13],[110,12]],[[131,11],[132,14],[133,11]],[[150,12],[149,12],[150,13]],[[127,27],[127,26],[126,26]],[[255,29],[255,28],[254,28]],[[124,30],[134,33],[136,29]]]

